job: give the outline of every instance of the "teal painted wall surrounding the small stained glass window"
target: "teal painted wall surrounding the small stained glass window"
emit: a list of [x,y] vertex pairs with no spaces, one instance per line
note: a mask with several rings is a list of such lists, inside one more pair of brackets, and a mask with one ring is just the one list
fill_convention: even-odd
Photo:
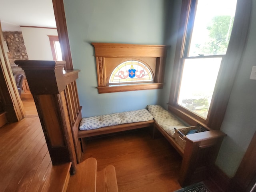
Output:
[[82,116],[95,116],[159,104],[161,90],[98,94],[91,42],[163,44],[164,0],[64,0]]

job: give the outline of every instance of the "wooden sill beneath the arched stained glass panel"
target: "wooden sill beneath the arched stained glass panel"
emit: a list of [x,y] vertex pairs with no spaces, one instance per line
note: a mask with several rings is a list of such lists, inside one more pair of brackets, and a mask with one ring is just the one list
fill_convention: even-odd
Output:
[[163,83],[150,83],[150,84],[129,84],[129,85],[110,85],[97,87],[99,93],[113,93],[149,89],[162,89]]

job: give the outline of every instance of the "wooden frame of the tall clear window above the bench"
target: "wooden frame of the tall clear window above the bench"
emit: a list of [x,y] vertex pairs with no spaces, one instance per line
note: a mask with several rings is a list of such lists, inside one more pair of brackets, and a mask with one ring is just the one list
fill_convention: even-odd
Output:
[[[168,110],[190,125],[201,124],[202,126],[215,130],[219,130],[221,127],[236,72],[240,65],[243,49],[246,44],[247,31],[250,23],[250,3],[248,2],[249,1],[243,2],[242,0],[237,1],[237,9],[230,42],[226,55],[222,58],[208,117],[205,120],[177,104],[183,67],[182,54],[184,53],[185,45],[189,44],[189,42],[186,42],[186,37],[191,35],[189,28],[193,25],[193,23],[188,23],[188,19],[189,17],[191,18],[195,16],[193,4],[196,5],[197,3],[197,0],[182,1],[179,35],[174,58],[174,68],[172,71]],[[190,26],[188,24],[190,24]]]

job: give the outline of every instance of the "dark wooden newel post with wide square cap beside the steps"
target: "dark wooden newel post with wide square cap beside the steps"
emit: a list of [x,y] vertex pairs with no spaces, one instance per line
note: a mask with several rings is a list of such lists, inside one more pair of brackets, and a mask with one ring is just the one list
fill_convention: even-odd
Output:
[[78,78],[79,70],[64,71],[65,61],[15,61],[28,80],[42,124],[52,164],[72,162],[76,171],[76,152],[68,115],[65,89]]

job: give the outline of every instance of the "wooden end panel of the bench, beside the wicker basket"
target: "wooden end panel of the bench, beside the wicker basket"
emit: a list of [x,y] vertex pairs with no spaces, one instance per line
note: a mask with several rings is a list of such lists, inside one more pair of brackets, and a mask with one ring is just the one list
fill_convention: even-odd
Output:
[[224,136],[224,133],[217,130],[187,136],[178,180],[181,186],[208,177],[208,172],[214,166]]

